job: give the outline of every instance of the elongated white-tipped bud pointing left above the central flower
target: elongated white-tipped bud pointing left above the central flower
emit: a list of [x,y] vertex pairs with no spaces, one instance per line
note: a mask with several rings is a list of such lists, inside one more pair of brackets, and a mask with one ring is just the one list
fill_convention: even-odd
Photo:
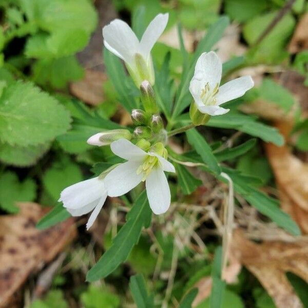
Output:
[[122,138],[130,140],[131,137],[131,132],[128,129],[112,129],[94,134],[87,140],[87,143],[102,146]]

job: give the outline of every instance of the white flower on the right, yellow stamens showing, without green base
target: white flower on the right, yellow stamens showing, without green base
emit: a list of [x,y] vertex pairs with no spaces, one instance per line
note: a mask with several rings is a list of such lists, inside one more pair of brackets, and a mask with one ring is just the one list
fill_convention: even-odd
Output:
[[201,113],[209,115],[224,114],[229,111],[221,104],[241,97],[254,86],[251,76],[243,76],[220,85],[222,63],[214,51],[200,55],[189,91]]

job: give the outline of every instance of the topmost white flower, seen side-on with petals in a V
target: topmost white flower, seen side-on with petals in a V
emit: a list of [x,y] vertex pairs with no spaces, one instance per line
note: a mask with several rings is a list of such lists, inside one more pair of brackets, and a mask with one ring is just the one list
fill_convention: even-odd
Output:
[[115,19],[103,28],[104,45],[124,60],[137,87],[144,80],[154,84],[151,49],[166,28],[168,14],[158,14],[148,25],[139,42],[136,34],[123,21]]

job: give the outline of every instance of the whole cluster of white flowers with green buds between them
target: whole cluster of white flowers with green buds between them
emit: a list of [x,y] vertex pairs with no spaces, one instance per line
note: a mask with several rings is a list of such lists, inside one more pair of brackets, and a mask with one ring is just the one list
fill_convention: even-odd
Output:
[[[164,171],[175,172],[175,167],[167,161],[164,143],[151,144],[146,139],[149,133],[156,135],[164,131],[160,115],[155,114],[156,105],[151,85],[155,74],[150,51],[163,33],[168,22],[168,14],[158,14],[145,30],[139,42],[136,34],[121,20],[114,20],[103,28],[104,45],[125,62],[134,83],[141,89],[141,99],[145,108],[132,110],[134,123],[138,126],[134,136],[141,138],[136,144],[130,140],[129,130],[117,129],[95,134],[88,139],[91,145],[110,145],[112,152],[126,162],[115,165],[95,177],[65,188],[59,201],[72,216],[91,213],[87,229],[97,218],[107,196],[118,197],[126,194],[142,181],[145,182],[149,205],[155,214],[162,214],[170,205],[170,189]],[[241,97],[254,83],[250,76],[244,76],[220,86],[222,63],[215,52],[200,55],[191,79],[189,90],[194,98],[190,106],[190,118],[195,125],[204,124],[210,115],[229,111],[221,104]],[[150,111],[150,112],[149,112]],[[148,125],[149,126],[149,125]],[[150,131],[150,132],[149,132]]]

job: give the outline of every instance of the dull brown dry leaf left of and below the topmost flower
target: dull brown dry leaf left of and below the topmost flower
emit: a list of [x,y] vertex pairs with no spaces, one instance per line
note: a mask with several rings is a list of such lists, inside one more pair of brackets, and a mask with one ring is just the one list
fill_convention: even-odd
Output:
[[70,92],[85,103],[96,106],[104,101],[103,83],[106,80],[105,73],[86,69],[83,80],[70,84]]

